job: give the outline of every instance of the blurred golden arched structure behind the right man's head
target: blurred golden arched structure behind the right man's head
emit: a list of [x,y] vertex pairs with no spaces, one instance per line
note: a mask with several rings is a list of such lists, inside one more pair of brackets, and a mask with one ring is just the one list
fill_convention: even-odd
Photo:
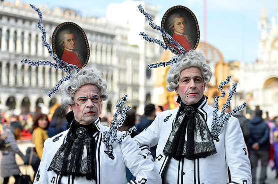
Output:
[[[227,64],[224,63],[224,59],[221,52],[213,45],[207,42],[200,41],[197,49],[201,50],[205,54],[207,63],[210,65],[213,73],[210,82],[206,85],[207,89],[205,90],[205,95],[208,97],[208,102],[211,105],[213,105],[214,97],[216,95],[217,96],[221,95],[221,91],[218,89],[218,85],[220,84],[220,82],[226,80],[227,76],[225,75],[227,75],[228,73],[228,67]],[[165,50],[162,53],[159,62],[169,61],[173,55],[174,54],[171,51]],[[167,92],[165,89],[167,86],[165,79],[169,71],[169,68],[170,66],[156,68],[157,70],[156,83],[155,83],[155,91],[157,92],[156,103],[158,105],[163,106],[164,109],[173,109],[178,106],[178,104],[175,102],[177,98],[177,94],[175,92]],[[229,85],[226,85],[224,89],[228,88],[228,86]],[[224,99],[223,98],[219,99],[220,107],[226,101],[226,98],[227,95],[225,96]]]

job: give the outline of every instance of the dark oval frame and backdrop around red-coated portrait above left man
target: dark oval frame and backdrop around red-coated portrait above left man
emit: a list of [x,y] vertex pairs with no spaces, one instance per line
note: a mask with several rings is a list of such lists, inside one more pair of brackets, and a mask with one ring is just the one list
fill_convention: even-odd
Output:
[[[87,36],[84,32],[84,30],[77,25],[74,22],[63,22],[60,23],[54,30],[52,37],[51,37],[51,43],[52,43],[52,49],[53,52],[58,56],[59,59],[62,59],[63,52],[64,52],[64,46],[62,45],[62,41],[59,41],[59,36],[61,37],[62,34],[61,31],[68,29],[71,32],[74,33],[74,36],[76,38],[76,46],[74,53],[76,54],[77,58],[80,59],[82,62],[82,65],[80,67],[83,68],[87,65],[90,57],[90,47],[88,43]],[[60,45],[59,45],[60,44]],[[67,62],[67,61],[65,61]],[[67,62],[68,63],[68,62]]]

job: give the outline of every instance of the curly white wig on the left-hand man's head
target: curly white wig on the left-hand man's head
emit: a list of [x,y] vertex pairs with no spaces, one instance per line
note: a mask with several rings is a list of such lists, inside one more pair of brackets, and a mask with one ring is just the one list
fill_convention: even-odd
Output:
[[82,68],[79,72],[72,70],[72,78],[68,80],[62,89],[62,103],[65,106],[75,103],[74,93],[85,84],[94,84],[100,90],[100,99],[107,100],[108,93],[106,92],[107,83],[102,78],[102,74],[96,68]]

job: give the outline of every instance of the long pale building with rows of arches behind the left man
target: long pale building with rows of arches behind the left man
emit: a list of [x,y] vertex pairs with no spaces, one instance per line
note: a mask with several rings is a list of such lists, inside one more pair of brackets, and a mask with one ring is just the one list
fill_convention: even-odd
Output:
[[[136,1],[137,4],[142,2]],[[154,18],[158,17],[157,6],[145,2],[144,5]],[[138,108],[138,113],[142,114],[146,98],[151,100],[150,86],[154,83],[146,78],[146,63],[157,60],[159,46],[154,46],[158,52],[147,53],[140,43],[131,44],[129,39],[134,32],[129,24],[118,24],[104,17],[81,16],[80,12],[63,7],[52,9],[47,4],[37,7],[43,13],[42,25],[48,43],[51,43],[54,29],[62,22],[76,22],[85,31],[90,46],[86,67],[98,68],[108,84],[109,99],[103,102],[102,113],[114,113],[116,103],[127,94],[125,105]],[[25,58],[55,62],[42,44],[38,20],[38,13],[29,4],[20,0],[0,1],[0,104],[19,113],[35,112],[42,106],[48,110],[56,103],[61,104],[61,90],[51,98],[47,92],[67,75],[49,66],[21,64]],[[143,21],[140,26],[148,25]]]

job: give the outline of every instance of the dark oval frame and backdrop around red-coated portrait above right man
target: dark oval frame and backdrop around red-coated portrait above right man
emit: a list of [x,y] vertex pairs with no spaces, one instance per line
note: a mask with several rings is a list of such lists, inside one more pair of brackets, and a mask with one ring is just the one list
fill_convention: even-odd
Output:
[[[172,14],[179,13],[184,17],[186,22],[186,28],[184,31],[184,39],[188,39],[187,41],[191,45],[191,49],[196,49],[200,42],[200,30],[197,18],[195,14],[187,7],[182,5],[177,5],[169,8],[163,15],[161,20],[161,27],[165,29],[165,31],[173,37],[173,27],[170,28],[171,24],[169,22],[169,18],[174,17]],[[188,26],[189,25],[189,26]],[[180,38],[180,37],[179,37]],[[175,38],[174,38],[175,39]],[[177,38],[176,38],[177,39]],[[175,40],[176,40],[175,39]],[[183,38],[182,38],[183,39]],[[163,40],[166,45],[169,46],[169,41],[163,36]],[[179,44],[181,44],[178,40],[176,40]],[[172,46],[172,45],[171,45]],[[186,48],[184,48],[186,50]]]

